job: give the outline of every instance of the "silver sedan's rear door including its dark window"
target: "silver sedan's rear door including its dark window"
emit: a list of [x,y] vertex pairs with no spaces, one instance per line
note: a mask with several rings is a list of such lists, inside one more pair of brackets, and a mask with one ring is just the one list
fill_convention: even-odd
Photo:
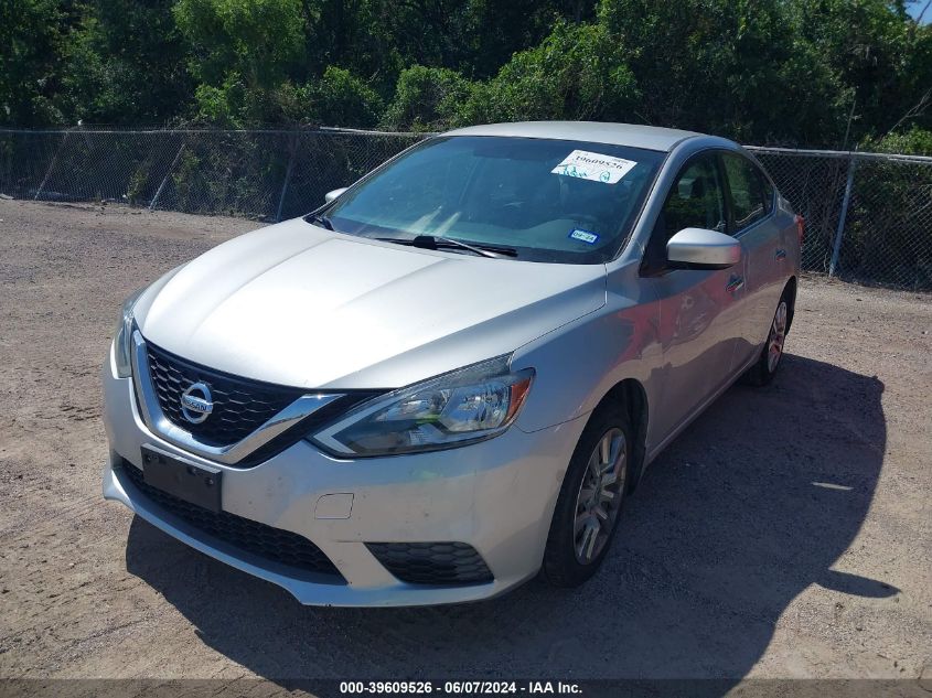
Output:
[[721,152],[721,163],[728,184],[729,227],[741,241],[746,260],[746,290],[735,347],[738,371],[758,355],[767,339],[786,278],[784,267],[791,260],[789,250],[781,248],[770,181],[757,163],[741,153]]

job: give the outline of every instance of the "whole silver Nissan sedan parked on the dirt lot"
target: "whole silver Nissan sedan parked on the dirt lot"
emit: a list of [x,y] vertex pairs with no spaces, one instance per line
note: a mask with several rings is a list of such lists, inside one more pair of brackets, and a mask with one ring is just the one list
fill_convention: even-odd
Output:
[[580,584],[664,445],[773,378],[802,232],[721,138],[428,139],[127,301],[104,495],[308,604]]

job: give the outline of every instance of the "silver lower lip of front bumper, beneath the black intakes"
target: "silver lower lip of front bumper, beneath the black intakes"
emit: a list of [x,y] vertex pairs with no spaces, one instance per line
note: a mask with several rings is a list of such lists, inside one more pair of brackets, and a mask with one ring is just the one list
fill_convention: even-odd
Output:
[[[397,582],[388,587],[358,588],[345,582],[340,577],[302,572],[296,577],[286,572],[288,568],[277,569],[275,563],[263,561],[255,563],[224,541],[217,540],[190,526],[185,522],[164,512],[144,497],[133,496],[133,486],[126,476],[120,476],[119,469],[109,463],[104,469],[104,498],[121,502],[135,514],[149,522],[172,538],[225,562],[238,570],[277,584],[288,591],[304,605],[322,606],[414,606],[464,603],[496,597],[526,581],[524,579],[503,583],[497,580],[470,586],[427,587]],[[531,574],[529,577],[533,577]]]

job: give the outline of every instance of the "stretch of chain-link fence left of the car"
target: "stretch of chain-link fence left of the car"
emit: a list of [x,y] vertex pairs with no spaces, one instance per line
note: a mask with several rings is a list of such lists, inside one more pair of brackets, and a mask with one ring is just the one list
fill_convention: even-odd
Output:
[[280,221],[422,138],[345,129],[0,130],[0,194]]

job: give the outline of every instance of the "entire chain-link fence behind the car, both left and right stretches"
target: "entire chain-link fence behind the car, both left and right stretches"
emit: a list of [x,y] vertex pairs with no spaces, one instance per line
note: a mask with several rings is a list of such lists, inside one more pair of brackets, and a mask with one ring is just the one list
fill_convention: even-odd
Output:
[[[318,130],[0,130],[0,194],[280,221],[425,138]],[[749,147],[806,219],[803,267],[932,290],[932,158]]]

